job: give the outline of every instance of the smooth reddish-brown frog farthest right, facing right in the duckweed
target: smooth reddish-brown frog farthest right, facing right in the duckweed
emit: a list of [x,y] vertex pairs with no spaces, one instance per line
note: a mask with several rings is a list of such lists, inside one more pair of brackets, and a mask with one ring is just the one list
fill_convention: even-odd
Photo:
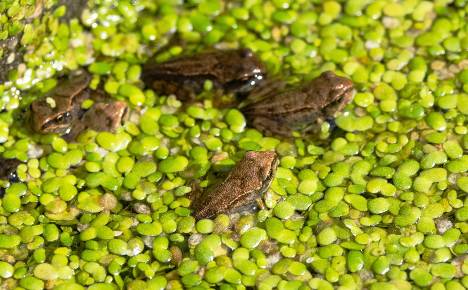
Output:
[[267,136],[292,136],[293,128],[322,121],[343,110],[352,97],[350,79],[327,71],[298,89],[290,89],[241,109]]

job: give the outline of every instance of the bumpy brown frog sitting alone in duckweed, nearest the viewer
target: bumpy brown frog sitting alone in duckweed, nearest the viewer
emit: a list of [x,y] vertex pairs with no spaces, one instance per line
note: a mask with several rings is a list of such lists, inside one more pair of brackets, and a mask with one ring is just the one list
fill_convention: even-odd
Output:
[[244,153],[232,171],[216,178],[202,189],[200,179],[192,179],[187,194],[190,208],[197,220],[212,219],[219,214],[241,212],[257,203],[265,208],[261,200],[276,176],[278,158],[274,151],[253,151]]

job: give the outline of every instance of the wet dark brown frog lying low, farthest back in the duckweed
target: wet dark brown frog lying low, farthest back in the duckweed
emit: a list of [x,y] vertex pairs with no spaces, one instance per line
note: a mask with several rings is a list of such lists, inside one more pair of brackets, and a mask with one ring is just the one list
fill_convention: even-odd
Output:
[[198,53],[143,68],[141,79],[158,95],[194,100],[211,80],[213,89],[245,94],[264,82],[265,66],[247,49]]

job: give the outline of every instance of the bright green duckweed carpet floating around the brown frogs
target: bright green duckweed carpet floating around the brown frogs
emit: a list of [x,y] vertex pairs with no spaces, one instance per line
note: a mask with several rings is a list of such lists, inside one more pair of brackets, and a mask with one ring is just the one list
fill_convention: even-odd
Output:
[[[22,162],[0,184],[2,289],[468,287],[463,0],[90,1],[68,22],[54,3],[0,1],[0,153]],[[140,80],[150,58],[238,47],[274,81],[333,70],[357,93],[275,138],[212,81],[182,104]],[[129,120],[68,143],[29,132],[25,109],[77,69]],[[265,207],[196,221],[188,181],[210,188],[246,150],[278,154]]]

